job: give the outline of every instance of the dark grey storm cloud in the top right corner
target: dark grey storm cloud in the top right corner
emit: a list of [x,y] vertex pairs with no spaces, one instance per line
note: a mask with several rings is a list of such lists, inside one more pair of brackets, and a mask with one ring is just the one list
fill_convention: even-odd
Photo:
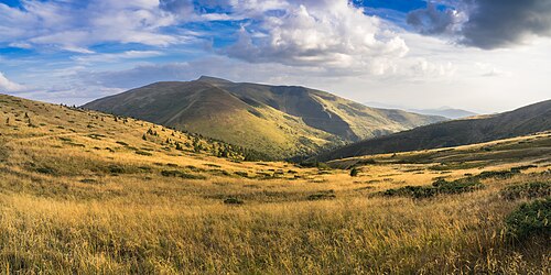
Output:
[[494,50],[525,44],[534,36],[551,37],[551,2],[436,0],[410,12],[408,23],[424,34],[449,34],[460,44]]

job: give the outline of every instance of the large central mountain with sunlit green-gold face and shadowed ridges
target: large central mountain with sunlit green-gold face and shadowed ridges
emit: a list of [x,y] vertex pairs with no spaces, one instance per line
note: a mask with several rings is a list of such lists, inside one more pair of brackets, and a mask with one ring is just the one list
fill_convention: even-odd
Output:
[[305,87],[233,82],[206,76],[193,81],[155,82],[84,108],[201,133],[273,157],[312,154],[322,147],[444,120],[368,108]]

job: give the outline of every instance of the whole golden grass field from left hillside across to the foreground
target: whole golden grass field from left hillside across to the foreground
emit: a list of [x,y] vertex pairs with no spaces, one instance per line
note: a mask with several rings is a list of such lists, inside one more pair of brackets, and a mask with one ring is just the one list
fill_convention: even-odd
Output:
[[[0,133],[6,274],[551,273],[549,239],[505,233],[527,199],[499,196],[551,180],[551,133],[302,168],[177,151],[165,140],[188,138],[173,130],[8,96]],[[358,176],[339,169],[353,164]],[[379,195],[529,164],[471,193]]]

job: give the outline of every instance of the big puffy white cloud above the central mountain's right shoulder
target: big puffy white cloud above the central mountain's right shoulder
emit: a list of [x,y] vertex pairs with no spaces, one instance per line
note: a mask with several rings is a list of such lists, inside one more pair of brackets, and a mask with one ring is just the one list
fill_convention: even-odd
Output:
[[409,50],[383,21],[365,15],[347,0],[273,7],[283,10],[264,13],[259,26],[244,25],[238,41],[223,53],[252,63],[354,69],[402,57]]

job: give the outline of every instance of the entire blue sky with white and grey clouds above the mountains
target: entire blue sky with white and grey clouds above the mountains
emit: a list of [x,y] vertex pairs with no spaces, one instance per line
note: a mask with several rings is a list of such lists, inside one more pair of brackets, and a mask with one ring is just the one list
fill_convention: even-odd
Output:
[[83,105],[202,75],[512,110],[551,99],[551,1],[0,0],[0,94]]

